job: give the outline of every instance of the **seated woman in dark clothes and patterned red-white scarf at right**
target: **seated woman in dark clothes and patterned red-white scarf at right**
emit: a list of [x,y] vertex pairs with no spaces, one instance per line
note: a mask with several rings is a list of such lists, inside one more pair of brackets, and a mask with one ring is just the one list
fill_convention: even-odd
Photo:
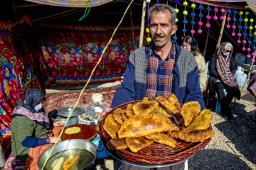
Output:
[[[230,103],[234,96],[240,99],[240,90],[237,81],[235,81],[235,62],[232,57],[233,45],[230,42],[223,42],[213,58],[210,60],[209,66],[209,91],[210,101],[218,94],[220,101],[221,113],[227,115],[228,119],[233,119],[233,114],[230,110]],[[225,96],[223,89],[226,89],[228,94]]]

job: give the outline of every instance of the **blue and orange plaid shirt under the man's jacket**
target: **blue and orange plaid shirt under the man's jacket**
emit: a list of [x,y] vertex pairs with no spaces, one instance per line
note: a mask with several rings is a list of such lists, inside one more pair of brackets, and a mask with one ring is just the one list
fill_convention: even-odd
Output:
[[[153,44],[153,43],[152,43]],[[175,43],[172,41],[171,50],[165,60],[162,60],[151,45],[151,52],[147,67],[147,87],[145,97],[164,96],[171,94],[175,58],[177,52]]]

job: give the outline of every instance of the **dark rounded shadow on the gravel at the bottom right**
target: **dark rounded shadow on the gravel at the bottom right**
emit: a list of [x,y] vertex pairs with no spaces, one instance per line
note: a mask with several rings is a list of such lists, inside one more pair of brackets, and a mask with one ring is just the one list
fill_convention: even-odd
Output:
[[188,169],[250,169],[250,167],[238,155],[220,149],[207,149],[207,151],[203,149],[188,159]]

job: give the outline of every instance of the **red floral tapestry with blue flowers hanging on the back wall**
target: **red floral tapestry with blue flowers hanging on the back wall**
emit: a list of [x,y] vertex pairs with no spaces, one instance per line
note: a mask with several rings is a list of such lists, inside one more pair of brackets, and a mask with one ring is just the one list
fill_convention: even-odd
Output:
[[[41,47],[41,70],[46,77],[44,86],[85,85],[97,64],[102,50],[110,40],[114,26],[57,26],[41,24],[36,27]],[[123,79],[129,55],[139,45],[139,26],[132,45],[130,27],[120,27],[107,47],[90,84]],[[146,34],[145,38],[146,40]]]

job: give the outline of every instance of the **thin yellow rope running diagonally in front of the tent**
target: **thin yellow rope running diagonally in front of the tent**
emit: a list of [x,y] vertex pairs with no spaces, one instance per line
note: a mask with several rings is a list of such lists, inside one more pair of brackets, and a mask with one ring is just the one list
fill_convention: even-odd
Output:
[[[107,42],[106,47],[105,47],[104,50],[102,51],[102,55],[100,56],[99,61],[97,62],[97,64],[95,65],[95,67],[92,69],[92,73],[90,74],[90,77],[89,77],[87,83],[85,84],[84,88],[82,89],[82,91],[81,91],[81,93],[80,93],[80,95],[79,95],[79,97],[78,97],[78,101],[80,100],[80,97],[82,96],[83,91],[85,91],[85,88],[86,88],[87,84],[89,84],[90,79],[92,78],[92,74],[95,72],[96,67],[98,66],[98,64],[99,64],[100,61],[102,60],[102,56],[104,55],[104,53],[105,53],[105,51],[106,51],[106,49],[107,49],[107,46],[110,45],[110,42],[112,41],[112,39],[113,39],[113,37],[114,37],[114,34],[115,34],[116,31],[117,31],[117,28],[118,28],[118,27],[120,26],[120,24],[122,23],[122,21],[123,21],[123,19],[124,19],[124,16],[125,16],[125,14],[127,13],[128,9],[129,9],[129,6],[131,6],[131,4],[132,4],[133,1],[134,1],[134,0],[132,0],[132,1],[130,2],[130,4],[127,6],[126,10],[124,11],[124,15],[123,15],[122,18],[121,18],[121,21],[119,21],[117,27],[114,29],[114,32],[113,32],[113,34],[112,34],[112,37],[110,38],[109,42]],[[72,111],[69,113],[68,118],[67,118],[67,120],[65,121],[65,125],[68,123],[68,120],[69,120],[69,118],[70,118],[70,115],[73,113],[75,107],[78,106],[78,101],[76,101],[74,108],[73,108]],[[65,125],[64,125],[64,127],[65,127]],[[50,157],[50,154],[53,152],[53,149],[54,149],[55,145],[57,144],[57,141],[60,140],[60,137],[61,137],[61,135],[63,134],[63,130],[64,130],[64,128],[60,131],[60,135],[58,136],[58,139],[56,140],[56,142],[55,142],[55,144],[53,145],[52,149],[50,149],[50,153],[49,153],[49,154],[47,155],[47,157],[46,157],[46,161],[45,161],[44,164],[43,164],[42,170],[43,170],[43,168],[46,166],[46,162],[48,161],[48,159],[49,159],[49,157]]]

